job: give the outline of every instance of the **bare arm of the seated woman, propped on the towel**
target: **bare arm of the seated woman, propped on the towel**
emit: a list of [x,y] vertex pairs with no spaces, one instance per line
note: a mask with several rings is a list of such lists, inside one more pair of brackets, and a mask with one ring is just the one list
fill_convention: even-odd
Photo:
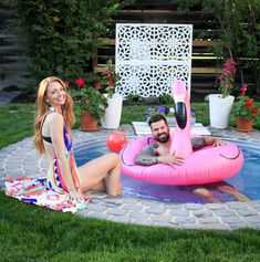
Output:
[[71,167],[69,161],[69,154],[64,144],[63,138],[63,117],[58,114],[51,114],[51,119],[49,122],[50,135],[52,138],[53,149],[60,166],[62,178],[66,185],[67,191],[73,199],[83,200],[83,196],[76,191],[76,188],[73,184]]

